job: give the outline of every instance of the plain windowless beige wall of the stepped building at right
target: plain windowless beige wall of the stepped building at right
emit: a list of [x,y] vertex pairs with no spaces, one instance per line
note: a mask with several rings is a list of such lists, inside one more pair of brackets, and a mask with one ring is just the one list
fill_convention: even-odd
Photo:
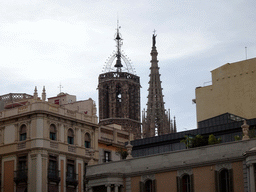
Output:
[[197,122],[229,112],[256,117],[256,58],[211,71],[212,85],[196,88]]

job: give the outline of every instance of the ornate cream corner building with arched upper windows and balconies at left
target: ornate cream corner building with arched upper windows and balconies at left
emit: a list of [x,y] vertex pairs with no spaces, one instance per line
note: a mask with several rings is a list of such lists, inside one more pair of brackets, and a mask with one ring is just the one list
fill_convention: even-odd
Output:
[[[57,97],[70,99],[68,94]],[[45,89],[42,99],[36,89],[33,96],[0,96],[2,192],[82,192],[86,165],[98,162],[95,106],[84,112],[69,109],[78,105],[71,104],[73,97],[71,107],[45,99]]]

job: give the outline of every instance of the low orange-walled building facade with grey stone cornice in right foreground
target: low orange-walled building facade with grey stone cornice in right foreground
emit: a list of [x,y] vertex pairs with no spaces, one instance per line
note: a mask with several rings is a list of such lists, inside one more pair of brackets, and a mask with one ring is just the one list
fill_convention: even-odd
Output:
[[256,140],[166,152],[87,168],[89,192],[255,191]]

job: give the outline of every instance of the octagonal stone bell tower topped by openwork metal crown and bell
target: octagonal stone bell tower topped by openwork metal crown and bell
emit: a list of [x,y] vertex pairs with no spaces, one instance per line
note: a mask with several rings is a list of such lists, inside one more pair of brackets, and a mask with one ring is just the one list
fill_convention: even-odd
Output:
[[104,73],[99,75],[99,124],[121,125],[123,130],[134,134],[134,139],[140,139],[140,77],[135,75],[129,59],[121,51],[119,29],[117,24],[117,50],[106,62]]

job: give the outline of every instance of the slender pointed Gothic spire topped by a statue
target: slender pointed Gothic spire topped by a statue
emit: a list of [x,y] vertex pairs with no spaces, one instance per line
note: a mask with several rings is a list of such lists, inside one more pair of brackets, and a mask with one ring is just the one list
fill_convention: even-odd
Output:
[[[153,137],[174,132],[176,129],[170,118],[170,110],[164,108],[163,94],[161,88],[157,50],[156,35],[153,34],[153,47],[151,51],[150,80],[148,89],[147,112],[142,112],[143,137]],[[175,121],[175,120],[174,120]]]

